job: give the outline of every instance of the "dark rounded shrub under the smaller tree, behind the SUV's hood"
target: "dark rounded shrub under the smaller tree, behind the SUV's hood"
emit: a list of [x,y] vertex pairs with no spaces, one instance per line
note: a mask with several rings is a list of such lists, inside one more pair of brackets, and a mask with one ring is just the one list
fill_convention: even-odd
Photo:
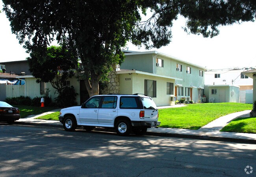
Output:
[[76,95],[75,89],[73,86],[71,87],[64,87],[61,93],[59,93],[58,97],[55,98],[55,102],[57,106],[60,107],[70,107],[76,106]]

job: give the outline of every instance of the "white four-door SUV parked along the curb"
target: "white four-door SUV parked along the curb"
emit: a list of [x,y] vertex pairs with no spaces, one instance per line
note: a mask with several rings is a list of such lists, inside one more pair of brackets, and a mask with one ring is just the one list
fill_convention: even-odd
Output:
[[142,95],[95,95],[82,106],[61,109],[59,121],[67,131],[83,126],[87,131],[95,127],[115,128],[121,136],[143,135],[147,128],[157,127],[158,109],[152,98]]

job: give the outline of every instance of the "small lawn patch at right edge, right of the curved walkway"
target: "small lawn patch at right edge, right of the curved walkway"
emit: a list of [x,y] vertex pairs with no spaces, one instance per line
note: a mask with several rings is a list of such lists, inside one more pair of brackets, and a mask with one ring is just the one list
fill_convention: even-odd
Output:
[[256,133],[256,117],[241,117],[232,120],[221,131]]

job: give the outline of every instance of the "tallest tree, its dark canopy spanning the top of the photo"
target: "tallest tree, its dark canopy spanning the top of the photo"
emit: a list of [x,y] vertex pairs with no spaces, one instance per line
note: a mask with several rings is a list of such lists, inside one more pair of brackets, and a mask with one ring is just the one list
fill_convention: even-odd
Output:
[[[122,47],[159,48],[171,42],[178,15],[187,19],[187,33],[213,37],[218,27],[254,21],[255,0],[3,0],[12,32],[28,52],[45,55],[54,39],[65,43],[82,61],[89,95],[112,64],[124,59]],[[150,9],[150,17],[141,16]]]

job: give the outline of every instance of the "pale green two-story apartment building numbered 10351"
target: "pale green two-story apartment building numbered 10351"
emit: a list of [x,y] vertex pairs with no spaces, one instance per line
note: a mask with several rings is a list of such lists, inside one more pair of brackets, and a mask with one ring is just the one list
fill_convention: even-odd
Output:
[[204,67],[157,51],[125,52],[126,58],[116,72],[119,83],[112,85],[118,85],[121,94],[143,93],[157,106],[174,105],[181,98],[202,101]]

